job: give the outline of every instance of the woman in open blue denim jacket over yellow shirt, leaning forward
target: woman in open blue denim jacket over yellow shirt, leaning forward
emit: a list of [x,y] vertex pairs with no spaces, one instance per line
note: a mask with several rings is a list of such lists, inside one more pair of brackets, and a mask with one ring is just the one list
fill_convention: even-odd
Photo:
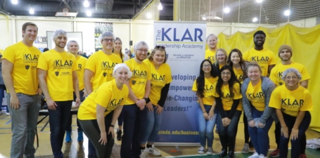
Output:
[[251,142],[255,147],[255,153],[248,158],[264,158],[269,150],[269,129],[272,121],[277,121],[274,109],[269,107],[275,85],[268,77],[261,76],[262,70],[257,62],[250,62],[246,73],[248,78],[241,86],[243,110],[248,119]]

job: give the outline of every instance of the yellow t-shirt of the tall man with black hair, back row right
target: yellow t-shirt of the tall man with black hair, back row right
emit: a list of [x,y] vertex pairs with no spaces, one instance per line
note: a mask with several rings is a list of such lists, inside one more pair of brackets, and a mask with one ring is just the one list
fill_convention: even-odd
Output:
[[277,60],[274,53],[266,48],[261,51],[250,48],[243,53],[243,60],[248,62],[257,62],[262,70],[261,75],[267,77],[269,65],[276,65]]

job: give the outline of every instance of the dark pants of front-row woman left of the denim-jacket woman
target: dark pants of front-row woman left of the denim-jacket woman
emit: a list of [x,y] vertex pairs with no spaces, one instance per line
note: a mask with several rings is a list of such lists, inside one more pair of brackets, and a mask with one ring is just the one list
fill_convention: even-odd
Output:
[[[229,114],[230,111],[224,111],[226,115]],[[228,126],[223,126],[221,114],[218,113],[218,125],[219,125],[219,138],[222,145],[222,149],[234,150],[234,146],[236,145],[236,129],[238,129],[238,123],[241,116],[241,111],[236,110],[234,112],[233,117],[231,118],[230,124]]]

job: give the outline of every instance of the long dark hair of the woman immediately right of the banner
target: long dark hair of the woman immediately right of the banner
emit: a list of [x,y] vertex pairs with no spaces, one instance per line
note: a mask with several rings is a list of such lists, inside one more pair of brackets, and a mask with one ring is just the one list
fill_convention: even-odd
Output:
[[217,77],[218,76],[218,72],[215,71],[215,69],[212,67],[212,62],[208,59],[203,60],[203,62],[201,62],[200,65],[200,74],[199,77],[197,78],[197,96],[199,96],[200,98],[205,97],[203,95],[203,91],[205,90],[205,72],[203,71],[203,63],[205,62],[209,62],[211,65],[211,71],[210,71],[210,75],[211,77]]

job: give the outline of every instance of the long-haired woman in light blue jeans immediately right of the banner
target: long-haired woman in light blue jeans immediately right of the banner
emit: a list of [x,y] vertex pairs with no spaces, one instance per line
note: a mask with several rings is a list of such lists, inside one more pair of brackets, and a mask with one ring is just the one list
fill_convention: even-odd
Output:
[[[213,154],[213,128],[217,119],[217,110],[215,110],[215,98],[212,93],[215,91],[213,85],[217,81],[217,73],[212,69],[210,60],[205,59],[200,65],[200,74],[196,81],[193,82],[192,91],[196,91],[198,96],[198,105],[196,107],[199,138],[201,147],[198,149],[199,154]],[[205,150],[207,142],[207,150]]]

